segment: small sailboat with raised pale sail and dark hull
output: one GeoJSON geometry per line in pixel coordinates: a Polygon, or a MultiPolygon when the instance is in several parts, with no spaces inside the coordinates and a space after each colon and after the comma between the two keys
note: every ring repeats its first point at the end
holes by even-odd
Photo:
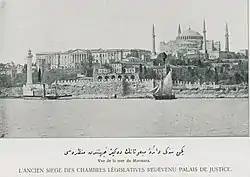
{"type": "Polygon", "coordinates": [[[172,69],[168,74],[161,79],[160,84],[157,85],[153,90],[153,97],[156,100],[172,100],[176,99],[175,95],[172,94],[173,81],[172,81],[172,69]]]}

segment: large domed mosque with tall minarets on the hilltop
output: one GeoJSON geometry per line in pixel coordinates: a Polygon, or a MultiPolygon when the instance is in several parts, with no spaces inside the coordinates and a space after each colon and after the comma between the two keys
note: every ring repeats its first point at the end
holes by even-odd
{"type": "MultiPolygon", "coordinates": [[[[153,32],[154,33],[154,32],[153,32]]],[[[194,31],[191,27],[182,31],[181,26],[178,27],[178,33],[175,40],[168,42],[160,42],[160,52],[171,54],[177,58],[204,58],[218,59],[227,57],[229,52],[229,32],[226,23],[225,30],[225,50],[221,50],[220,41],[207,40],[206,22],[203,21],[203,35],[194,31]],[[204,42],[206,41],[206,42],[204,42]]],[[[153,34],[155,37],[155,34],[153,34]]]]}

